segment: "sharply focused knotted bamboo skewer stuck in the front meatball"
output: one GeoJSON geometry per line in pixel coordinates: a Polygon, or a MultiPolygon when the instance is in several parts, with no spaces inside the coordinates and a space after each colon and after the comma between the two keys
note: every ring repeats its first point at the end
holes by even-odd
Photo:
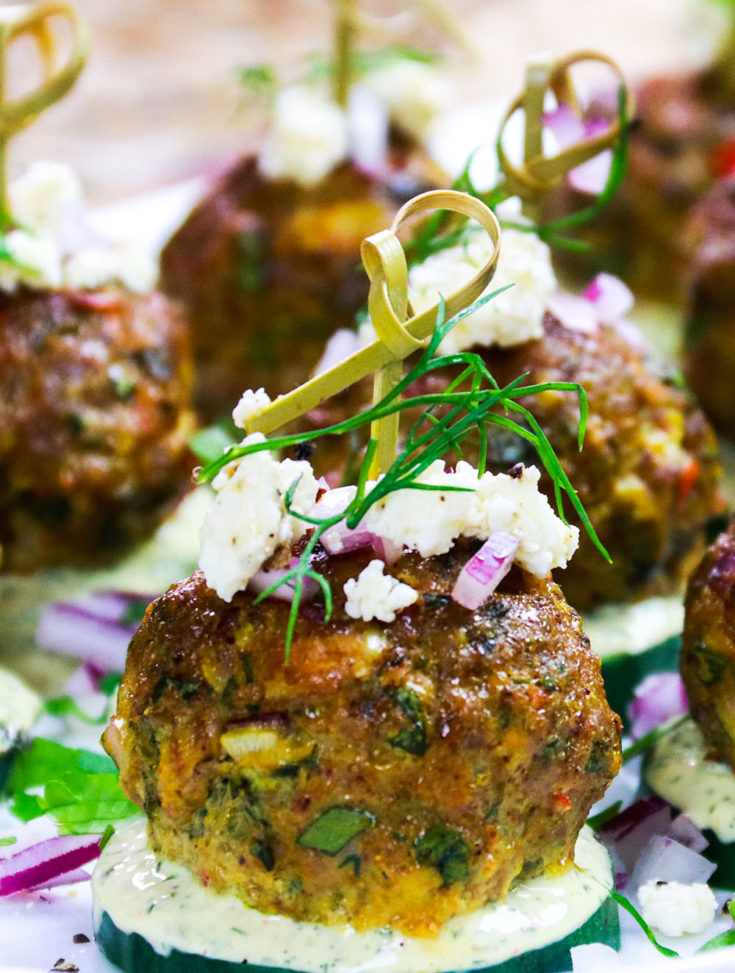
{"type": "MultiPolygon", "coordinates": [[[[449,210],[476,220],[492,241],[492,252],[483,267],[446,299],[447,320],[477,300],[490,283],[500,254],[500,226],[495,214],[474,196],[451,189],[414,197],[396,213],[390,230],[375,233],[362,244],[362,259],[370,278],[368,309],[377,340],[292,392],[279,396],[247,422],[248,432],[269,433],[279,429],[371,374],[376,375],[375,394],[378,394],[378,382],[385,388],[383,395],[395,387],[402,373],[400,363],[427,344],[438,310],[436,304],[421,314],[413,314],[408,300],[406,258],[397,232],[402,223],[433,210],[449,210]],[[407,315],[411,315],[408,320],[407,315]],[[392,371],[384,371],[390,366],[392,371]]],[[[393,417],[387,418],[393,421],[393,417]]],[[[396,441],[391,440],[394,432],[397,435],[397,420],[378,430],[375,462],[378,472],[395,458],[396,441]]]]}

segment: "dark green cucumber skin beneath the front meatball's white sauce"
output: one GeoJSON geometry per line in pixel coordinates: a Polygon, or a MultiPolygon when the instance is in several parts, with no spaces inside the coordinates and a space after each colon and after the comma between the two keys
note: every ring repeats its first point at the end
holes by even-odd
{"type": "MultiPolygon", "coordinates": [[[[230,963],[208,959],[206,956],[181,953],[177,949],[168,956],[162,956],[138,933],[125,933],[118,929],[106,912],[102,915],[95,938],[110,962],[126,973],[242,973],[244,965],[247,965],[248,973],[299,973],[293,969],[257,966],[245,960],[230,963]]],[[[605,899],[594,915],[559,942],[531,950],[499,965],[473,967],[471,973],[563,973],[571,969],[570,949],[586,943],[603,943],[613,949],[620,948],[618,907],[612,898],[605,899]]]]}

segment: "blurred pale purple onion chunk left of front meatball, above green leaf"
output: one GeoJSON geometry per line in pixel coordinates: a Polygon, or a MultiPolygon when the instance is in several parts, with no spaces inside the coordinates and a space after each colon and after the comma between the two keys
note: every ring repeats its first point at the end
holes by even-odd
{"type": "Polygon", "coordinates": [[[120,619],[132,604],[152,600],[149,595],[105,591],[47,605],[36,629],[36,644],[45,652],[90,661],[106,672],[121,671],[137,625],[123,625],[120,619]]]}

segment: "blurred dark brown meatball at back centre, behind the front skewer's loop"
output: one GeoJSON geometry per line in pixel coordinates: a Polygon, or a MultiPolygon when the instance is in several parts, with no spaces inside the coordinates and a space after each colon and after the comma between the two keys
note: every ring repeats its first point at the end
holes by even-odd
{"type": "Polygon", "coordinates": [[[446,178],[403,144],[391,165],[387,182],[345,162],[305,189],[267,179],[247,156],[174,234],[161,281],[193,327],[203,416],[228,413],[244,388],[264,386],[272,397],[294,388],[333,331],[352,322],[368,291],[360,243],[446,178]]]}

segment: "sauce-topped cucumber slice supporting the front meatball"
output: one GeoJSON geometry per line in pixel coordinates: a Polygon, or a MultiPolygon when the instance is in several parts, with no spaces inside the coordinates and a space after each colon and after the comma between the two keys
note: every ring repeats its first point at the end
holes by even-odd
{"type": "Polygon", "coordinates": [[[248,909],[156,860],[136,823],[113,836],[95,868],[97,941],[126,973],[234,973],[244,962],[251,973],[350,973],[376,960],[384,973],[554,973],[570,968],[572,946],[620,944],[610,860],[587,828],[575,857],[576,867],[525,881],[436,938],[416,939],[248,909]]]}

